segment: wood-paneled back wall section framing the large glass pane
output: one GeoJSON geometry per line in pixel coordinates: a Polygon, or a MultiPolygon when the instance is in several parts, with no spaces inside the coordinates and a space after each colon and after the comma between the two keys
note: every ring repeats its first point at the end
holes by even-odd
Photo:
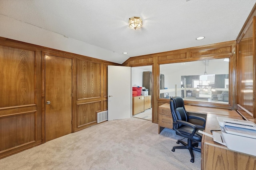
{"type": "MultiPolygon", "coordinates": [[[[160,98],[159,82],[160,82],[160,64],[180,63],[187,61],[199,61],[208,59],[230,59],[230,104],[214,104],[208,102],[192,102],[185,101],[185,104],[196,106],[220,107],[226,109],[236,109],[236,41],[228,41],[223,43],[216,43],[212,45],[205,45],[200,47],[192,47],[187,49],[180,49],[174,51],[167,51],[163,53],[156,53],[150,55],[143,55],[138,57],[131,57],[125,61],[123,66],[146,66],[152,65],[153,70],[153,95],[152,95],[152,122],[158,123],[158,106],[169,103],[168,99],[160,98]]],[[[193,69],[193,68],[191,68],[193,69]]]]}

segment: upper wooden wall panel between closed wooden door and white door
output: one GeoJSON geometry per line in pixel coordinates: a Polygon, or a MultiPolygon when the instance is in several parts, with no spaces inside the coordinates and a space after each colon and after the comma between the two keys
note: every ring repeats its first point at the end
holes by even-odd
{"type": "Polygon", "coordinates": [[[100,98],[101,64],[77,60],[77,98],[100,98]]]}

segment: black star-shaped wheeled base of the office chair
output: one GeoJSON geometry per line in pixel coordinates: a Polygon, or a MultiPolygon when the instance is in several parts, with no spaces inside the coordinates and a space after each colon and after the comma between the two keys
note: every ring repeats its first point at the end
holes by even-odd
{"type": "Polygon", "coordinates": [[[198,147],[198,142],[192,143],[191,139],[188,139],[188,143],[185,143],[181,140],[177,141],[177,144],[181,143],[184,146],[176,146],[176,147],[172,147],[172,152],[175,151],[175,149],[188,149],[191,155],[191,159],[190,162],[194,163],[194,154],[193,154],[193,150],[197,151],[197,152],[201,152],[200,148],[195,148],[198,147]]]}

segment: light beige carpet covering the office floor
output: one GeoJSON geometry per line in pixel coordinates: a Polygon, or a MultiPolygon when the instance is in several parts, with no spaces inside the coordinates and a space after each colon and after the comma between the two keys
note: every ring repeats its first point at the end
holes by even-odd
{"type": "Polygon", "coordinates": [[[0,170],[200,170],[171,129],[137,118],[106,121],[0,160],[0,170]]]}

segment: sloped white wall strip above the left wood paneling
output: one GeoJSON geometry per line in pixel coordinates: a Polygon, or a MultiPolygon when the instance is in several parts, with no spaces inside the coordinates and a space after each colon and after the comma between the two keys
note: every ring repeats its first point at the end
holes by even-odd
{"type": "MultiPolygon", "coordinates": [[[[0,37],[122,64],[124,55],[0,14],[0,37]]],[[[128,59],[129,57],[127,57],[128,59]]]]}

